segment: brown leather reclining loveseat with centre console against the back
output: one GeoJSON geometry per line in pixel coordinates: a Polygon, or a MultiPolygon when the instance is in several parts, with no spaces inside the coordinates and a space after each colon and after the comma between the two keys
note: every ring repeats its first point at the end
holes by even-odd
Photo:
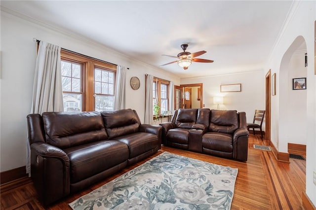
{"type": "Polygon", "coordinates": [[[175,110],[160,123],[162,144],[189,151],[247,161],[246,113],[208,108],[175,110]]]}

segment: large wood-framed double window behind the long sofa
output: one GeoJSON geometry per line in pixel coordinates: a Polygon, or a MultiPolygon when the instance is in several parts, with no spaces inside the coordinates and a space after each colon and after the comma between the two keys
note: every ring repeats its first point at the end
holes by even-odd
{"type": "Polygon", "coordinates": [[[114,109],[116,65],[61,50],[64,111],[114,109]]]}

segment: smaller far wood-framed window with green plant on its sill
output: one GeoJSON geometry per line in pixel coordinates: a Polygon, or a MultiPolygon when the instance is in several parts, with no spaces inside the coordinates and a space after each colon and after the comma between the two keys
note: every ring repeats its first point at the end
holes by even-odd
{"type": "MultiPolygon", "coordinates": [[[[170,84],[169,81],[159,79],[159,78],[154,78],[153,105],[158,104],[159,114],[164,114],[169,110],[169,84],[170,84]]],[[[153,110],[153,113],[155,113],[154,110],[153,110]]]]}

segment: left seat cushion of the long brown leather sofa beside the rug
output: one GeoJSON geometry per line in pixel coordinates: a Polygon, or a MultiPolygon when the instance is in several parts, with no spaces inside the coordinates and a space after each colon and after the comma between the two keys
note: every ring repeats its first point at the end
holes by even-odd
{"type": "Polygon", "coordinates": [[[126,144],[115,140],[91,142],[64,150],[70,160],[70,182],[76,183],[128,159],[126,144]]]}

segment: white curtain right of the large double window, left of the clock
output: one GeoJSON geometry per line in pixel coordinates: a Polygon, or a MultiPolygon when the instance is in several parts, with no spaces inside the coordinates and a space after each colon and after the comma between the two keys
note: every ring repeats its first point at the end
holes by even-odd
{"type": "Polygon", "coordinates": [[[125,79],[126,79],[126,68],[123,66],[117,67],[117,79],[115,86],[114,96],[114,109],[125,108],[125,79]]]}

